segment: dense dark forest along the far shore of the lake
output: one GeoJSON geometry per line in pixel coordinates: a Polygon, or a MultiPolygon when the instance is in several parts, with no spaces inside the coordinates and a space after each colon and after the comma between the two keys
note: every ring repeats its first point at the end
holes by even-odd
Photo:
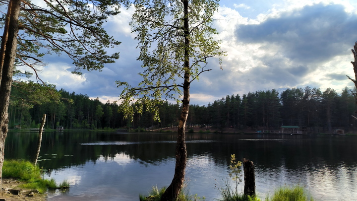
{"type": "MultiPolygon", "coordinates": [[[[213,127],[224,132],[236,130],[276,130],[281,125],[306,127],[307,132],[331,133],[334,129],[355,130],[355,98],[345,87],[341,94],[327,88],[288,88],[227,95],[207,105],[191,105],[188,126],[213,127]]],[[[136,113],[133,122],[123,118],[117,102],[102,103],[87,95],[56,90],[53,85],[17,82],[9,106],[9,127],[38,128],[47,114],[46,129],[167,128],[178,123],[180,105],[160,105],[160,122],[150,112],[136,113]]],[[[144,108],[145,110],[145,108],[144,108]]]]}

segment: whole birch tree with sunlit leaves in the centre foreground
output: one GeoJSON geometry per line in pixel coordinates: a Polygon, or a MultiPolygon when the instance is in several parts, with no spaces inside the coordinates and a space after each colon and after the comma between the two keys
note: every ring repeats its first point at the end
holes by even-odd
{"type": "Polygon", "coordinates": [[[176,145],[175,174],[170,186],[162,196],[163,201],[173,201],[183,185],[187,151],[185,125],[190,102],[190,85],[207,68],[209,58],[218,57],[219,66],[224,52],[217,34],[212,28],[213,14],[218,9],[218,0],[135,0],[135,13],[131,26],[137,34],[137,48],[142,61],[143,80],[138,86],[117,81],[124,86],[120,94],[121,111],[127,118],[133,112],[155,112],[158,119],[158,103],[163,99],[181,101],[182,110],[176,145]],[[136,102],[135,105],[133,103],[136,102]],[[137,104],[140,103],[140,104],[137,104]]]}

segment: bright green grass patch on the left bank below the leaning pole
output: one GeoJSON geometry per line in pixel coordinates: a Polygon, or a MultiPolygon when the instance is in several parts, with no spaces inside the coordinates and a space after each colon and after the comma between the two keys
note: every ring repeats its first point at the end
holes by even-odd
{"type": "Polygon", "coordinates": [[[5,160],[2,167],[2,178],[13,178],[24,182],[20,188],[36,189],[41,194],[47,190],[68,187],[67,181],[57,186],[54,179],[42,179],[42,170],[33,163],[24,160],[5,160]]]}

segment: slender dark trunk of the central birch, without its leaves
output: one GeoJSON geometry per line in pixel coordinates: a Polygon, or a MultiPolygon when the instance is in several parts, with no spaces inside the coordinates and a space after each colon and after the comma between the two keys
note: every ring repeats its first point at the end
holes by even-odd
{"type": "Polygon", "coordinates": [[[179,118],[178,137],[176,144],[176,165],[174,179],[161,197],[161,201],[175,201],[178,197],[184,182],[187,149],[185,142],[185,128],[189,109],[189,87],[190,87],[190,66],[189,66],[189,26],[188,26],[188,0],[183,0],[183,34],[185,40],[184,49],[184,82],[182,110],[179,118]]]}

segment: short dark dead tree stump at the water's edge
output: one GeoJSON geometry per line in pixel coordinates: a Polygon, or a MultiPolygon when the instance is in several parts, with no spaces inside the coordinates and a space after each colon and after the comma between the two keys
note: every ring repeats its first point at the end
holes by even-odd
{"type": "Polygon", "coordinates": [[[253,161],[243,158],[244,196],[255,196],[255,175],[253,161]]]}

